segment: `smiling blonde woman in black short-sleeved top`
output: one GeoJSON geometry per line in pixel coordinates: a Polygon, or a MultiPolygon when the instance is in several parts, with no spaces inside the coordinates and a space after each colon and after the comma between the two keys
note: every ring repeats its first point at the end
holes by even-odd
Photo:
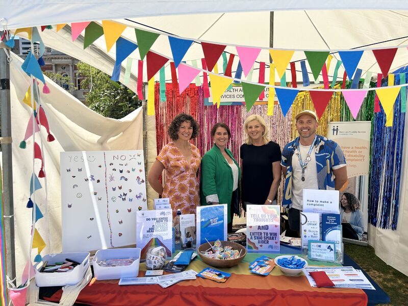
{"type": "Polygon", "coordinates": [[[244,209],[251,204],[276,204],[281,182],[281,148],[269,141],[265,120],[251,115],[245,120],[246,143],[241,145],[242,202],[244,209]]]}

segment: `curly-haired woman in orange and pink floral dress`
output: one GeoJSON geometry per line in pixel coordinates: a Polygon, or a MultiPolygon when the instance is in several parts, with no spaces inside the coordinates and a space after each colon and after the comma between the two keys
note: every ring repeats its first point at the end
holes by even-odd
{"type": "Polygon", "coordinates": [[[191,115],[179,114],[171,122],[168,133],[171,142],[166,144],[151,166],[147,175],[150,186],[162,197],[170,198],[173,218],[177,209],[182,214],[195,214],[199,205],[199,185],[197,170],[201,156],[190,139],[198,136],[199,126],[191,115]],[[159,176],[166,170],[164,187],[159,176]]]}

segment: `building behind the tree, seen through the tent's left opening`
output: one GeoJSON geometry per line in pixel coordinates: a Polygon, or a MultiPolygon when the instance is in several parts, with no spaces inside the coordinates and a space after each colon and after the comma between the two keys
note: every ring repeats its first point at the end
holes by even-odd
{"type": "MultiPolygon", "coordinates": [[[[27,39],[16,39],[12,52],[25,59],[30,52],[31,42],[27,39]]],[[[39,44],[34,43],[34,54],[38,55],[39,44]]],[[[43,72],[59,73],[63,77],[69,77],[70,83],[73,84],[75,90],[70,93],[80,101],[84,102],[84,93],[88,92],[88,89],[84,89],[81,86],[81,75],[77,70],[77,63],[79,60],[59,52],[55,49],[45,47],[44,55],[42,56],[45,66],[41,66],[43,72]]],[[[67,84],[59,84],[64,89],[68,89],[67,84]]]]}

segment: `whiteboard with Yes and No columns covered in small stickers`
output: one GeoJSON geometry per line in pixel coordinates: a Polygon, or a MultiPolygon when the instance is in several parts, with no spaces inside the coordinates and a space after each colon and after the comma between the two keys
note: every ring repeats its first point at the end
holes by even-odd
{"type": "Polygon", "coordinates": [[[143,150],[61,152],[62,251],[136,244],[146,199],[143,150]]]}

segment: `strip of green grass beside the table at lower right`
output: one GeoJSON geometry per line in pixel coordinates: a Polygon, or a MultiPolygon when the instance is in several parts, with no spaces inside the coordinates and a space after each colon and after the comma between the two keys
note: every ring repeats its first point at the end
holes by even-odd
{"type": "Polygon", "coordinates": [[[387,265],[371,246],[344,244],[344,250],[391,298],[387,305],[408,305],[408,276],[387,265]]]}

